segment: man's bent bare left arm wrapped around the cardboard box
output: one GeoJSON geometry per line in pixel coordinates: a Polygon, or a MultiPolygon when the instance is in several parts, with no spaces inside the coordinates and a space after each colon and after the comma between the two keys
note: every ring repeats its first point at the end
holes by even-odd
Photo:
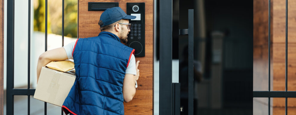
{"type": "Polygon", "coordinates": [[[46,51],[39,56],[37,64],[37,83],[41,68],[51,61],[62,61],[68,59],[67,53],[64,48],[56,48],[46,51]]]}

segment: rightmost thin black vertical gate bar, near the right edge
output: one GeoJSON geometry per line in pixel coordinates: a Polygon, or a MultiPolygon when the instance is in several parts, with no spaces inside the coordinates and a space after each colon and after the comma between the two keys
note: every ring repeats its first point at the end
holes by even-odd
{"type": "MultiPolygon", "coordinates": [[[[285,84],[286,84],[286,92],[288,91],[288,0],[286,0],[286,81],[285,81],[285,84]]],[[[286,111],[286,115],[288,115],[288,107],[287,107],[287,100],[288,98],[286,97],[286,102],[285,102],[285,111],[286,111]]]]}

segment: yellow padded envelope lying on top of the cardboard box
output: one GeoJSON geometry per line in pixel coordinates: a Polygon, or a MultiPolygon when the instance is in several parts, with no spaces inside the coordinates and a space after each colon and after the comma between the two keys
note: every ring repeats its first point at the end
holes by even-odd
{"type": "Polygon", "coordinates": [[[46,67],[54,69],[54,70],[66,72],[66,71],[74,69],[74,62],[71,62],[69,60],[57,61],[57,62],[52,61],[52,62],[49,62],[46,65],[46,67]]]}

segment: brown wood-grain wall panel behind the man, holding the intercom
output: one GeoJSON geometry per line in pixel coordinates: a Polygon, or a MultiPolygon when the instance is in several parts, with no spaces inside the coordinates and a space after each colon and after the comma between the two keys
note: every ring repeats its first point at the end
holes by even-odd
{"type": "Polygon", "coordinates": [[[132,101],[124,103],[126,115],[153,114],[153,0],[79,0],[78,37],[94,37],[100,33],[98,25],[103,11],[88,11],[88,2],[118,2],[126,12],[127,2],[145,2],[145,57],[140,60],[140,78],[132,101]]]}

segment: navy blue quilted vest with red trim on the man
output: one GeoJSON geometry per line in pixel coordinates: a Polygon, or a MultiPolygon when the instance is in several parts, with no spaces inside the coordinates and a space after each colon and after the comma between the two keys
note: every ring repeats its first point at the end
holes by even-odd
{"type": "Polygon", "coordinates": [[[123,78],[134,51],[106,31],[78,39],[72,53],[76,79],[62,106],[65,114],[123,115],[123,78]]]}

